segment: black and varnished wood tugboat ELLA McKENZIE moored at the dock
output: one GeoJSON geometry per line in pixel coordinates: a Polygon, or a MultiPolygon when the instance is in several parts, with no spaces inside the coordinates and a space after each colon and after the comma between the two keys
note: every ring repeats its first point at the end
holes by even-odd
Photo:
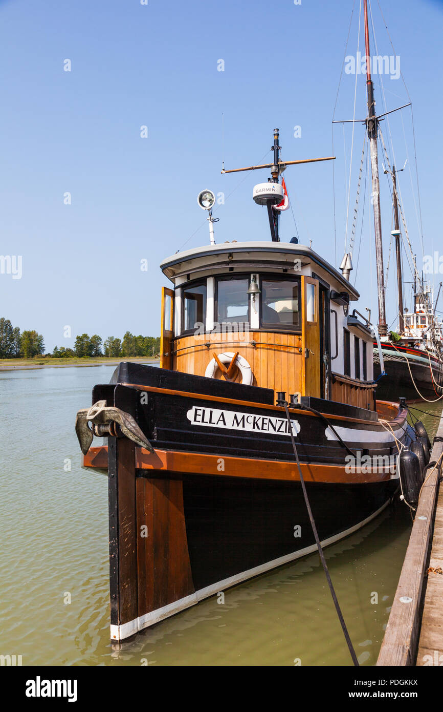
{"type": "Polygon", "coordinates": [[[405,402],[375,401],[356,288],[310,247],[280,241],[289,163],[277,129],[273,150],[250,167],[270,168],[253,197],[271,241],[215,244],[203,191],[210,244],[161,263],[160,367],[122,362],[78,412],[84,465],[108,472],[114,643],[316,550],[300,472],[322,545],[363,527],[390,503],[397,454],[417,438],[405,402]]]}

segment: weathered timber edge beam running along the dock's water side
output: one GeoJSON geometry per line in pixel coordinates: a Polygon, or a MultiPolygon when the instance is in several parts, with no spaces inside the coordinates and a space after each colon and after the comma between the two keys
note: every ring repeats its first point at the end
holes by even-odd
{"type": "MultiPolygon", "coordinates": [[[[443,436],[443,413],[438,435],[443,436]]],[[[431,461],[438,461],[442,451],[443,443],[436,442],[432,448],[431,461]]],[[[439,472],[436,469],[422,487],[393,607],[378,655],[378,666],[415,665],[438,479],[439,472]]]]}

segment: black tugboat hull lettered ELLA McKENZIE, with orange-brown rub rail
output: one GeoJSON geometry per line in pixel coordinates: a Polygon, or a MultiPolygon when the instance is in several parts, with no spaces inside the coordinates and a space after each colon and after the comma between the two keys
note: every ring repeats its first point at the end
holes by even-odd
{"type": "MultiPolygon", "coordinates": [[[[85,465],[107,467],[111,639],[316,550],[287,414],[274,393],[122,364],[92,401],[130,415],[151,449],[112,430],[85,465]]],[[[290,407],[323,545],[393,497],[406,409],[378,413],[315,398],[290,407]],[[387,421],[387,422],[386,422],[387,421]]]]}

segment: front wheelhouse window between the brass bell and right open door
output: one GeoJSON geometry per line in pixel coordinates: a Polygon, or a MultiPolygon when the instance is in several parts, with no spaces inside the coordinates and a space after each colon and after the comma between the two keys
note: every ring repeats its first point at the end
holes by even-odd
{"type": "Polygon", "coordinates": [[[300,281],[266,279],[261,283],[262,327],[300,328],[300,281]]]}

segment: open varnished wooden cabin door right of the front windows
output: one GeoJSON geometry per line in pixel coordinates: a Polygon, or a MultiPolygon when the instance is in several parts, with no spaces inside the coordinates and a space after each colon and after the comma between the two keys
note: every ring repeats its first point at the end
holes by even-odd
{"type": "Polygon", "coordinates": [[[321,397],[320,371],[323,350],[320,348],[319,282],[301,277],[301,352],[303,355],[302,395],[321,397]]]}

